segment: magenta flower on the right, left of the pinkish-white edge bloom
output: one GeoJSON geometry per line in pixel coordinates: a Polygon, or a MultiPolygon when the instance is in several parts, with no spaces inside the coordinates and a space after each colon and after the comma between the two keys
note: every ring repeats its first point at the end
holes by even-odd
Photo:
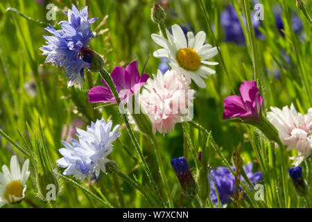
{"type": "Polygon", "coordinates": [[[241,117],[243,120],[259,120],[263,103],[255,81],[245,81],[239,88],[241,96],[227,96],[224,100],[223,119],[241,117]]]}

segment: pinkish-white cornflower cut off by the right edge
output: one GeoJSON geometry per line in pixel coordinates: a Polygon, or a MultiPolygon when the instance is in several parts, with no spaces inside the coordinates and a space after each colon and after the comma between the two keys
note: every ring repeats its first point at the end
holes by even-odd
{"type": "Polygon", "coordinates": [[[297,166],[311,155],[312,108],[305,115],[297,112],[293,104],[291,108],[285,106],[280,110],[271,107],[271,110],[272,112],[268,112],[268,119],[277,128],[281,142],[288,146],[287,151],[295,148],[299,154],[291,158],[297,166]]]}

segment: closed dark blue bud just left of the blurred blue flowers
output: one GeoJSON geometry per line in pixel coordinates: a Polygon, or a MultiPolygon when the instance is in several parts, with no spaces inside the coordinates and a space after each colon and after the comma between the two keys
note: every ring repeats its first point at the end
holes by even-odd
{"type": "Polygon", "coordinates": [[[196,194],[198,194],[198,186],[191,174],[191,171],[189,171],[189,164],[187,164],[187,160],[185,160],[184,157],[178,157],[172,159],[170,163],[177,174],[184,196],[193,198],[196,194]]]}

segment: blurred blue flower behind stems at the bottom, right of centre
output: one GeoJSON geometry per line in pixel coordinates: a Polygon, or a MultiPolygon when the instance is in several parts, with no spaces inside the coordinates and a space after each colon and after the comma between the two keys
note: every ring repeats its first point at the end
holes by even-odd
{"type": "MultiPolygon", "coordinates": [[[[235,167],[232,167],[232,169],[233,171],[236,171],[235,167]]],[[[258,183],[262,180],[263,175],[261,171],[252,173],[252,162],[246,166],[243,166],[243,169],[253,185],[255,185],[256,182],[258,183]]],[[[244,181],[242,177],[241,181],[244,181]]],[[[227,167],[217,167],[216,169],[212,169],[211,173],[209,173],[209,184],[210,198],[216,205],[218,205],[216,189],[218,190],[221,205],[229,203],[231,198],[234,197],[235,178],[231,171],[227,169],[227,167]],[[211,178],[213,180],[211,180],[211,178]],[[216,189],[214,184],[216,185],[216,189]]],[[[239,187],[239,191],[241,191],[241,187],[239,187]]]]}

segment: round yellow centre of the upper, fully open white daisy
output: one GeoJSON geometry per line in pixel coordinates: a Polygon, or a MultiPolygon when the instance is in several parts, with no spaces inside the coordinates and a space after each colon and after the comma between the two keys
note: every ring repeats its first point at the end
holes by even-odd
{"type": "Polygon", "coordinates": [[[193,50],[193,47],[179,49],[175,54],[180,67],[189,71],[196,71],[200,67],[200,56],[193,50]]]}

